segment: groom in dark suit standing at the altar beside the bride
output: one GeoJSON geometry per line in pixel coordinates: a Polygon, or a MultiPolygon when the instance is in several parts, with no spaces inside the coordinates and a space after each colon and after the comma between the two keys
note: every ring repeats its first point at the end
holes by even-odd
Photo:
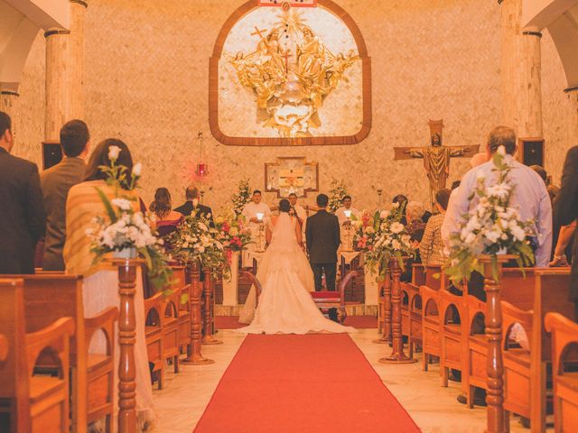
{"type": "Polygon", "coordinates": [[[322,275],[325,272],[327,290],[335,290],[337,274],[337,250],[340,247],[340,223],[327,212],[329,198],[325,194],[317,196],[319,211],[307,218],[305,239],[309,262],[315,277],[315,291],[322,290],[322,275]]]}

